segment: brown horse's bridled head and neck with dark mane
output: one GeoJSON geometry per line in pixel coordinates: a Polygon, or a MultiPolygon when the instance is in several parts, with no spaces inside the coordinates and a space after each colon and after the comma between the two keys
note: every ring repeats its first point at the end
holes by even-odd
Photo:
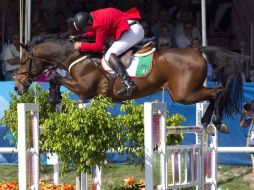
{"type": "Polygon", "coordinates": [[[15,79],[15,90],[18,94],[27,92],[34,79],[45,69],[52,67],[67,70],[70,62],[80,56],[72,41],[54,36],[45,38],[36,45],[20,45],[24,53],[15,79]]]}

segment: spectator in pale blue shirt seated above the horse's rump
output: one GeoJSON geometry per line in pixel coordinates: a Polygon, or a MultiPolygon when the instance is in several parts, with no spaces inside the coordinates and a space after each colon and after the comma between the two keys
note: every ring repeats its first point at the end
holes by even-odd
{"type": "Polygon", "coordinates": [[[183,24],[184,33],[176,37],[176,46],[179,48],[186,48],[191,46],[191,40],[193,38],[198,38],[193,34],[193,23],[192,21],[186,21],[183,24]]]}

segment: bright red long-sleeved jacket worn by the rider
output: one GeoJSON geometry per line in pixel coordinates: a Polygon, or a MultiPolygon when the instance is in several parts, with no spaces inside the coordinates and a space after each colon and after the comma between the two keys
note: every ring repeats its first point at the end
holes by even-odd
{"type": "Polygon", "coordinates": [[[107,37],[118,40],[121,34],[129,30],[128,20],[140,19],[137,8],[132,8],[122,12],[115,8],[99,9],[90,13],[93,16],[92,30],[87,32],[87,36],[95,36],[94,43],[82,43],[80,51],[100,52],[103,49],[107,37]]]}

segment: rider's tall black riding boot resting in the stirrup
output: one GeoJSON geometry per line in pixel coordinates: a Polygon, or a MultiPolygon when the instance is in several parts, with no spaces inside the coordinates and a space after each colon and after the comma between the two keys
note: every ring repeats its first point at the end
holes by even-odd
{"type": "Polygon", "coordinates": [[[112,69],[119,75],[122,81],[122,88],[117,92],[117,94],[131,95],[131,93],[136,89],[137,86],[134,84],[133,81],[131,81],[123,63],[115,54],[111,54],[109,58],[109,64],[111,65],[112,69]]]}

